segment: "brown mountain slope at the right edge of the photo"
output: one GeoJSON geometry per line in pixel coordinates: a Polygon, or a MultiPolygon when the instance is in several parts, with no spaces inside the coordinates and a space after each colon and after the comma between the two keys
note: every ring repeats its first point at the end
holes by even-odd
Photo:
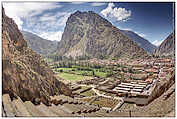
{"type": "Polygon", "coordinates": [[[171,33],[154,51],[155,56],[175,56],[175,36],[171,33]]]}

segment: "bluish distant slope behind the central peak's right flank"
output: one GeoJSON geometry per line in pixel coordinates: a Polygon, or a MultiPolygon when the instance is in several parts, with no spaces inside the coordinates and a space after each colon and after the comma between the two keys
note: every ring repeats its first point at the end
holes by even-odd
{"type": "Polygon", "coordinates": [[[121,32],[128,36],[130,39],[132,39],[134,42],[136,42],[138,46],[146,50],[146,52],[148,53],[152,53],[157,48],[155,45],[151,44],[148,40],[142,38],[141,36],[132,31],[121,30],[121,32]]]}

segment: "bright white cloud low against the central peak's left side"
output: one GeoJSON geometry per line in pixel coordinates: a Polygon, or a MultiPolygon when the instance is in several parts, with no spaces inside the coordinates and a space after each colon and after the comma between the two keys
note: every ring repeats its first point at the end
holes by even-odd
{"type": "Polygon", "coordinates": [[[57,31],[57,32],[43,32],[39,36],[51,40],[51,41],[60,41],[62,37],[63,32],[62,31],[57,31]]]}

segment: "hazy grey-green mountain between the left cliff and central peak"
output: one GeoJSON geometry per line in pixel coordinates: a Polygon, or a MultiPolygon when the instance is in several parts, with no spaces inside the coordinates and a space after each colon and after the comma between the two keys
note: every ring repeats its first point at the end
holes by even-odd
{"type": "Polygon", "coordinates": [[[40,55],[52,54],[57,49],[57,41],[46,40],[27,31],[21,32],[29,47],[40,55]]]}

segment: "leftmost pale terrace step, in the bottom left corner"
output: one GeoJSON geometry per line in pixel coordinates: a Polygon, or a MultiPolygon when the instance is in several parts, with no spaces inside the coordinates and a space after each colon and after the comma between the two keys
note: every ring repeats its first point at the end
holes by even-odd
{"type": "Polygon", "coordinates": [[[12,105],[9,94],[4,94],[2,96],[2,104],[3,104],[3,110],[4,110],[4,113],[5,113],[5,116],[15,117],[16,110],[12,105]]]}

